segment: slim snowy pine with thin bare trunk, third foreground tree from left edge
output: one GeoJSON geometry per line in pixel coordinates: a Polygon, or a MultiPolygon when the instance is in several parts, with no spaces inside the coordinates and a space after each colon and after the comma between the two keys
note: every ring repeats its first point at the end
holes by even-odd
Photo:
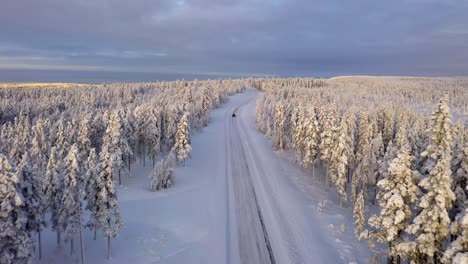
{"type": "Polygon", "coordinates": [[[57,244],[60,246],[60,229],[58,228],[58,216],[61,210],[63,197],[62,162],[58,159],[59,153],[56,147],[50,150],[47,163],[44,194],[46,200],[46,212],[51,214],[50,222],[52,230],[57,232],[57,244]]]}

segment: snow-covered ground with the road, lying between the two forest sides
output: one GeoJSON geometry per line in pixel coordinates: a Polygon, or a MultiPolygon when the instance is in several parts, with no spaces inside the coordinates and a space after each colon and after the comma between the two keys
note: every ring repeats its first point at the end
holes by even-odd
{"type": "MultiPolygon", "coordinates": [[[[370,251],[354,238],[351,210],[313,187],[310,172],[273,152],[256,130],[257,97],[249,89],[212,112],[192,137],[193,158],[176,169],[174,187],[150,192],[151,163],[135,164],[118,189],[125,226],[112,240],[113,259],[102,235],[94,241],[86,229],[86,262],[366,263],[370,251]]],[[[55,233],[43,241],[39,263],[79,262],[77,239],[73,256],[69,244],[57,248],[55,233]]]]}

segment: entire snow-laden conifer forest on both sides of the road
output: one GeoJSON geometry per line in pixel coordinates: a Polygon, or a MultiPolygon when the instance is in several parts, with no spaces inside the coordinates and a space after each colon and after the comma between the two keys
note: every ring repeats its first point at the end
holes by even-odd
{"type": "Polygon", "coordinates": [[[467,263],[468,79],[384,77],[5,86],[0,259],[40,257],[46,227],[72,251],[102,233],[110,257],[115,184],[140,162],[149,190],[172,185],[190,134],[247,86],[258,129],[353,211],[359,239],[389,263],[467,263]]]}

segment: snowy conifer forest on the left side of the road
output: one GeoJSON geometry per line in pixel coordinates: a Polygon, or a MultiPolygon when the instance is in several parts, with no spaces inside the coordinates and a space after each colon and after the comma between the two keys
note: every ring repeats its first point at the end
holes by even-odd
{"type": "MultiPolygon", "coordinates": [[[[132,163],[153,166],[149,189],[174,183],[190,133],[247,80],[116,83],[0,89],[0,259],[41,257],[41,231],[57,244],[83,228],[108,240],[124,224],[115,184],[132,163]],[[149,160],[149,164],[146,164],[149,160]],[[89,217],[85,217],[88,216],[89,217]]],[[[81,246],[81,249],[83,247],[81,246]]],[[[82,252],[83,255],[83,252],[82,252]]]]}

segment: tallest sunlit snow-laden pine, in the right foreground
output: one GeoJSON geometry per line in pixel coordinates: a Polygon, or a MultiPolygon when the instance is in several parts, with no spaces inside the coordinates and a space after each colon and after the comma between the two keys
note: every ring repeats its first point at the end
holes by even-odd
{"type": "Polygon", "coordinates": [[[455,200],[455,194],[451,190],[451,123],[448,97],[444,96],[432,114],[431,142],[421,154],[426,161],[422,168],[423,179],[418,185],[423,189],[424,195],[418,204],[419,213],[406,229],[415,236],[415,240],[398,246],[398,250],[411,261],[440,262],[449,235],[448,210],[455,200]]]}

